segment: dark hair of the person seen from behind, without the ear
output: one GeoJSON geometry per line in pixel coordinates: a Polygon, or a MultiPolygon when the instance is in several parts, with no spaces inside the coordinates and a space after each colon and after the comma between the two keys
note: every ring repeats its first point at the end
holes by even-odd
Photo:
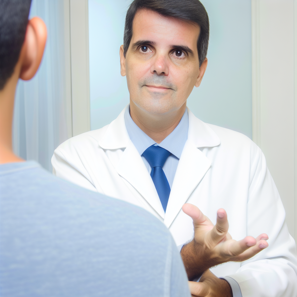
{"type": "Polygon", "coordinates": [[[0,90],[18,62],[30,6],[31,0],[0,0],[0,90]]]}

